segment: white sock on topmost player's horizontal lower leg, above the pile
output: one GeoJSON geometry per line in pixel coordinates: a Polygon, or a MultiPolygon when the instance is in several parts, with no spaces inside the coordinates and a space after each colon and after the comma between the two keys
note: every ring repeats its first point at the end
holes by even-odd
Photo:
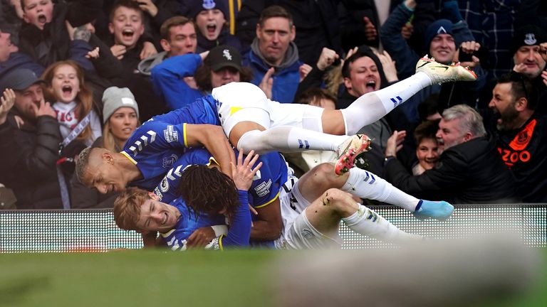
{"type": "Polygon", "coordinates": [[[239,138],[238,149],[256,154],[269,151],[336,151],[348,136],[335,136],[294,126],[276,126],[264,131],[251,130],[239,138]]]}

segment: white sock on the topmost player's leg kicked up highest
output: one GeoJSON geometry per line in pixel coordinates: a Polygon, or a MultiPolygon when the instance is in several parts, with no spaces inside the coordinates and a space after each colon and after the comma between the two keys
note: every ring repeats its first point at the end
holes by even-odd
{"type": "Polygon", "coordinates": [[[429,85],[431,79],[425,72],[417,72],[389,87],[355,99],[349,107],[340,110],[344,117],[345,134],[356,134],[363,126],[376,122],[429,85]]]}

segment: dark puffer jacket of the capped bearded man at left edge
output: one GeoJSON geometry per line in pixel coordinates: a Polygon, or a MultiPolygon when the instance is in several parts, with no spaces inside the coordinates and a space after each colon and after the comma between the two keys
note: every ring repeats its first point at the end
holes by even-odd
{"type": "Polygon", "coordinates": [[[0,183],[14,190],[18,209],[63,208],[56,161],[61,142],[57,119],[38,117],[19,129],[10,114],[0,125],[0,183]]]}

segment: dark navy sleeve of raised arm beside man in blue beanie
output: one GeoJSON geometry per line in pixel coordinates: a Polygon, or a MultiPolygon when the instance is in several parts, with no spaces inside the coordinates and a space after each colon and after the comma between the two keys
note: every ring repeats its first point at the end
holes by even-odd
{"type": "Polygon", "coordinates": [[[414,74],[416,62],[420,59],[420,55],[410,48],[401,35],[402,26],[405,26],[411,14],[405,4],[400,4],[392,11],[380,31],[382,45],[395,60],[400,80],[414,74]]]}

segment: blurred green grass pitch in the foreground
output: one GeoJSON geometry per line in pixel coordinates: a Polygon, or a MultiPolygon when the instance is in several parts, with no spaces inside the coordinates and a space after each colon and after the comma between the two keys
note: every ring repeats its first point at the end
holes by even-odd
{"type": "MultiPolygon", "coordinates": [[[[276,306],[268,272],[281,253],[0,254],[0,306],[276,306]]],[[[484,306],[547,306],[538,269],[534,289],[484,306]]]]}

